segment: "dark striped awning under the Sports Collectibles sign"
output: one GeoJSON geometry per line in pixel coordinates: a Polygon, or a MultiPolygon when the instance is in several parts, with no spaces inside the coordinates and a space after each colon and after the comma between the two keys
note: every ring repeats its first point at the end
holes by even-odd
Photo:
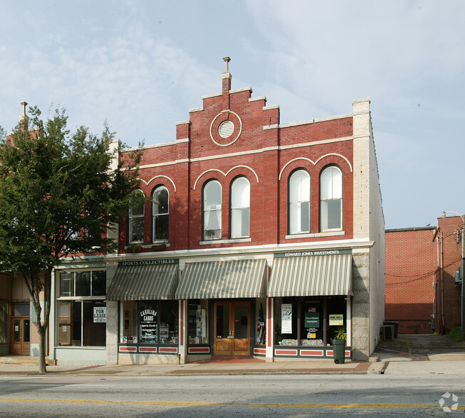
{"type": "Polygon", "coordinates": [[[179,264],[118,266],[108,301],[175,299],[179,264]]]}

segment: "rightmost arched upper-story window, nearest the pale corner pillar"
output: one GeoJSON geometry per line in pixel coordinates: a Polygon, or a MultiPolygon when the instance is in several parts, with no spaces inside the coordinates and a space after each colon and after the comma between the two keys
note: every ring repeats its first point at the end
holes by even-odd
{"type": "Polygon", "coordinates": [[[320,230],[343,229],[343,173],[329,166],[320,176],[320,230]]]}

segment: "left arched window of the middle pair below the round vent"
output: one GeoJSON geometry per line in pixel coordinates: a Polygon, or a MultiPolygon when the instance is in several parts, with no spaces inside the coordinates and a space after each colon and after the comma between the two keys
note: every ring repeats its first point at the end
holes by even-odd
{"type": "Polygon", "coordinates": [[[203,190],[204,240],[221,240],[221,184],[209,181],[203,190]]]}

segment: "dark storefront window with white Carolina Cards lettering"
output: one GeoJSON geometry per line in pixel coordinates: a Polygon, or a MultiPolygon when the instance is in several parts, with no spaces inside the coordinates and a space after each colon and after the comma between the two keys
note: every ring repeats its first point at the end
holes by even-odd
{"type": "Polygon", "coordinates": [[[122,343],[177,344],[178,301],[125,301],[122,343]]]}

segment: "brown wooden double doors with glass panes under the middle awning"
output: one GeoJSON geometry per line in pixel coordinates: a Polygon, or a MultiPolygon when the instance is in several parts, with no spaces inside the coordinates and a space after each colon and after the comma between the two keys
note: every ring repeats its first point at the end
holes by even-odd
{"type": "Polygon", "coordinates": [[[250,355],[250,302],[215,302],[215,355],[250,355]]]}

